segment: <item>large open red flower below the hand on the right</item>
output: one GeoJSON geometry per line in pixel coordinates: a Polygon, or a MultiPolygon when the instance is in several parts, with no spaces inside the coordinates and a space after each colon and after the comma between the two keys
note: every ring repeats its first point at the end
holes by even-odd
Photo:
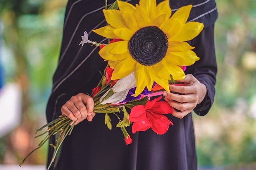
{"type": "Polygon", "coordinates": [[[134,106],[131,110],[129,120],[134,122],[132,133],[137,131],[146,131],[150,127],[157,134],[164,134],[173,125],[164,114],[172,113],[172,107],[164,101],[158,102],[162,97],[148,101],[145,106],[134,106]]]}

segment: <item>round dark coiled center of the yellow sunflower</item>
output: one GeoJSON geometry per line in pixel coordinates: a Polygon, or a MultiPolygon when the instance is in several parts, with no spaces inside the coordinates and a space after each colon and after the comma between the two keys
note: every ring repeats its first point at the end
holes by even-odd
{"type": "Polygon", "coordinates": [[[128,43],[132,58],[144,66],[160,62],[166,55],[168,39],[165,33],[156,26],[139,29],[128,43]]]}

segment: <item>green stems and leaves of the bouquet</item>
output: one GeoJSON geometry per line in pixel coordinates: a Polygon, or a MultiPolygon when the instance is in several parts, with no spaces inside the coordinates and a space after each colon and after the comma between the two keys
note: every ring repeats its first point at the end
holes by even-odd
{"type": "MultiPolygon", "coordinates": [[[[106,9],[118,9],[118,5],[117,2],[115,1],[109,8],[108,8],[108,1],[105,0],[106,3],[106,9]]],[[[110,39],[108,39],[108,43],[110,42],[110,39]]],[[[100,46],[102,44],[100,43],[94,43],[94,45],[96,46],[100,46]]],[[[102,105],[101,103],[104,101],[102,100],[100,102],[100,98],[101,96],[107,91],[109,90],[110,84],[112,82],[112,80],[108,83],[108,84],[104,84],[104,78],[106,78],[106,69],[104,70],[104,75],[102,76],[102,79],[100,80],[100,82],[98,83],[98,86],[96,88],[94,88],[92,94],[94,94],[93,99],[94,99],[94,112],[96,113],[114,113],[117,117],[118,115],[116,114],[116,112],[120,111],[120,108],[117,108],[117,106],[112,106],[112,105],[108,105],[108,104],[104,104],[102,105]],[[98,87],[101,87],[101,89],[96,92],[95,91],[98,87]]],[[[106,82],[106,81],[105,81],[106,82]]],[[[92,96],[92,94],[90,96],[92,96]]],[[[107,98],[108,96],[106,96],[107,98]]],[[[120,106],[122,107],[122,106],[120,106]]],[[[106,117],[105,117],[106,118],[106,117]]],[[[118,120],[121,122],[121,119],[118,117],[118,120]]],[[[43,127],[41,127],[40,129],[36,130],[36,134],[39,131],[42,131],[44,128],[48,127],[48,129],[43,132],[40,135],[37,135],[35,138],[40,137],[42,135],[46,135],[46,137],[44,137],[44,139],[39,143],[38,147],[34,150],[32,150],[20,163],[20,166],[22,166],[22,164],[24,164],[24,162],[27,160],[27,158],[36,150],[38,150],[40,147],[42,147],[44,145],[44,143],[46,143],[48,141],[48,139],[50,139],[50,137],[53,137],[54,135],[56,135],[56,141],[55,141],[55,145],[54,144],[50,144],[50,146],[52,146],[54,148],[54,153],[52,156],[52,160],[47,168],[47,170],[50,169],[50,167],[52,166],[52,163],[54,162],[54,159],[56,158],[56,155],[58,153],[58,150],[60,149],[64,139],[66,138],[67,135],[70,135],[72,133],[72,130],[74,128],[76,121],[72,121],[70,118],[68,118],[66,115],[61,115],[59,118],[51,121],[50,123],[47,123],[46,125],[44,125],[43,127]]],[[[125,136],[128,137],[128,133],[126,132],[126,130],[124,129],[124,127],[122,127],[122,131],[125,134],[125,136]]]]}

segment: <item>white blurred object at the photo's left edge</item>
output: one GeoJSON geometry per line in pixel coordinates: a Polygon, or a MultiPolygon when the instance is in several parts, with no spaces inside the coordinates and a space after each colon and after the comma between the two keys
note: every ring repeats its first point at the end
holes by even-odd
{"type": "Polygon", "coordinates": [[[0,137],[12,131],[21,121],[21,90],[9,83],[0,90],[0,137]]]}

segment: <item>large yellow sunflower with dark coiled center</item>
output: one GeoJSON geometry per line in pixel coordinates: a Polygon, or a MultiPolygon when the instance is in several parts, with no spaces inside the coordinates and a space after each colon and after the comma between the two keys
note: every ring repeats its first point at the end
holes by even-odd
{"type": "Polygon", "coordinates": [[[182,66],[198,61],[196,53],[185,41],[196,37],[204,25],[187,22],[192,5],[181,7],[172,17],[169,0],[156,5],[156,0],[140,0],[133,6],[117,1],[119,10],[103,10],[109,25],[94,30],[110,39],[99,54],[114,69],[112,80],[134,72],[136,96],[145,87],[152,90],[154,81],[169,92],[168,80],[185,78],[182,66]]]}

